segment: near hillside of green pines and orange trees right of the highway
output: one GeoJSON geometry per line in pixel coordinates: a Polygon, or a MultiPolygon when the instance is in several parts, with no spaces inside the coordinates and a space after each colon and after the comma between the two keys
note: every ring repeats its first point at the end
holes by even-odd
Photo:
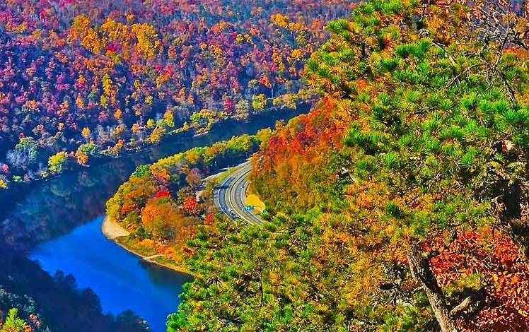
{"type": "Polygon", "coordinates": [[[325,96],[252,157],[269,222],[199,227],[169,330],[527,331],[525,17],[370,0],[330,23],[325,96]]]}

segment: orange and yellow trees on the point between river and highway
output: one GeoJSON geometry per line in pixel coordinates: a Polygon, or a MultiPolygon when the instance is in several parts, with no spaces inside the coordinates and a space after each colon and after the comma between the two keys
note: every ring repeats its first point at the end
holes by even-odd
{"type": "Polygon", "coordinates": [[[107,215],[132,232],[128,246],[162,254],[182,268],[186,240],[197,225],[215,219],[211,199],[197,201],[201,189],[211,195],[211,187],[202,188],[204,176],[245,158],[258,145],[254,136],[238,136],[142,165],[107,201],[107,215]]]}

